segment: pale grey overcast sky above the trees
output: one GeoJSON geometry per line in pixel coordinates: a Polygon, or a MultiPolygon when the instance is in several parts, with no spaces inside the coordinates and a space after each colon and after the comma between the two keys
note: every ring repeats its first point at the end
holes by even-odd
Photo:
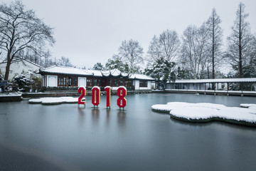
{"type": "MultiPolygon", "coordinates": [[[[9,3],[9,0],[1,0],[9,3]]],[[[242,0],[256,33],[256,1],[242,0]]],[[[122,41],[134,39],[148,51],[154,35],[166,29],[181,36],[190,24],[201,26],[213,8],[222,20],[223,41],[231,33],[239,0],[23,0],[27,9],[54,28],[53,57],[70,58],[75,66],[91,68],[112,58],[122,41]]]]}

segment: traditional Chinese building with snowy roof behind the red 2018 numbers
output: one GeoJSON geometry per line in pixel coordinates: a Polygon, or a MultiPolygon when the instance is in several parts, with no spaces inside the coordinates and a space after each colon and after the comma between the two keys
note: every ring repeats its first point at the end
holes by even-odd
{"type": "Polygon", "coordinates": [[[115,90],[119,86],[125,86],[128,90],[151,90],[151,84],[154,83],[154,78],[149,76],[122,73],[117,69],[96,71],[52,66],[41,68],[39,73],[43,76],[44,87],[111,86],[115,90]]]}

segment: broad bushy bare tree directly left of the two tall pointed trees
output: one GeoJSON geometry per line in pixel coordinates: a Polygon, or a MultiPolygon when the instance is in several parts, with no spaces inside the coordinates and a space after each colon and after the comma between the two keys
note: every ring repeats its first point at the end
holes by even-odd
{"type": "Polygon", "coordinates": [[[208,61],[208,31],[206,24],[200,28],[188,26],[183,32],[180,62],[193,73],[193,78],[201,78],[208,61]]]}

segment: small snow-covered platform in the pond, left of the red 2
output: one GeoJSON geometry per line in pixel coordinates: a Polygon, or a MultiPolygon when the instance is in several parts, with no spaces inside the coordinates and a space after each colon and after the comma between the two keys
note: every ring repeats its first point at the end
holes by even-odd
{"type": "Polygon", "coordinates": [[[28,103],[41,103],[43,105],[57,105],[61,103],[78,103],[78,98],[59,97],[59,98],[36,98],[28,100],[28,103]]]}

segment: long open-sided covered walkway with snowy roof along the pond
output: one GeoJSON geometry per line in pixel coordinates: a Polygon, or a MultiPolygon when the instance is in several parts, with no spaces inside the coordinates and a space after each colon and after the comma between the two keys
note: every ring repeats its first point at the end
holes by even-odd
{"type": "Polygon", "coordinates": [[[256,96],[256,78],[177,80],[166,83],[166,92],[256,96]]]}

